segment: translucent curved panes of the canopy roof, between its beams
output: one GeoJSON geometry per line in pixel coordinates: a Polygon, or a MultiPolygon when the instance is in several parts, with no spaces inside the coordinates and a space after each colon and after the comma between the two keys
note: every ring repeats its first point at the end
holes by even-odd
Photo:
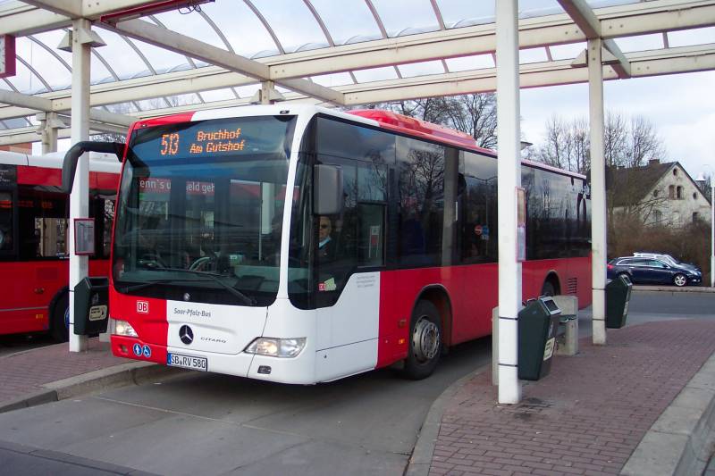
{"type": "MultiPolygon", "coordinates": [[[[587,0],[598,9],[637,4],[638,0],[587,0]]],[[[520,0],[521,19],[564,14],[557,0],[520,0]]],[[[0,0],[0,14],[22,5],[0,0]]],[[[474,0],[215,0],[197,11],[159,13],[143,18],[154,25],[258,59],[280,54],[309,52],[332,46],[357,45],[425,32],[457,30],[494,22],[494,1],[474,0]]],[[[110,85],[131,79],[209,68],[183,54],[95,28],[106,46],[93,48],[91,83],[110,85]]],[[[71,86],[71,54],[57,46],[67,29],[43,31],[16,39],[17,74],[0,79],[0,88],[28,95],[53,93],[71,86]]],[[[672,31],[616,39],[624,53],[715,43],[715,28],[672,31]]],[[[585,42],[527,47],[522,64],[568,61],[585,49],[585,42]]],[[[394,66],[378,66],[309,76],[316,84],[334,88],[374,81],[409,79],[444,73],[494,68],[493,54],[473,54],[394,66]]],[[[144,114],[186,104],[220,103],[250,97],[256,82],[190,94],[147,97],[102,107],[114,113],[144,114]]],[[[285,89],[279,88],[281,91],[285,89]]],[[[0,129],[33,125],[33,117],[0,120],[0,129]]]]}

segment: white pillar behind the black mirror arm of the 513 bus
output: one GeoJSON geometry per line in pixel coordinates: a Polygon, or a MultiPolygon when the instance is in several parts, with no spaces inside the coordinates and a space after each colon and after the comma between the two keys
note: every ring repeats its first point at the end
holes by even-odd
{"type": "MultiPolygon", "coordinates": [[[[90,29],[86,19],[72,21],[72,96],[71,143],[89,138],[89,64],[90,44],[82,43],[83,33],[90,29]]],[[[70,253],[70,352],[87,350],[87,337],[74,335],[74,287],[88,275],[88,257],[74,254],[74,219],[89,214],[89,163],[83,154],[77,163],[70,196],[70,222],[67,228],[70,253]]]]}

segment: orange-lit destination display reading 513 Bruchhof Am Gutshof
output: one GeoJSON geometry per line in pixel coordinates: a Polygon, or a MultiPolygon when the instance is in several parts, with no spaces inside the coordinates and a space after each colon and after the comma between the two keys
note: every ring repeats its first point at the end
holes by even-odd
{"type": "Polygon", "coordinates": [[[135,132],[131,152],[142,161],[285,154],[291,117],[257,116],[169,124],[135,132]]]}

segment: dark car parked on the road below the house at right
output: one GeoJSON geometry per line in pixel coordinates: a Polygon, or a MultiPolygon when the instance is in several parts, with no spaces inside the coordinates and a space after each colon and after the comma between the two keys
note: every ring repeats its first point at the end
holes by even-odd
{"type": "Polygon", "coordinates": [[[700,284],[702,281],[702,274],[699,271],[645,256],[623,256],[610,260],[608,278],[613,280],[619,274],[627,274],[634,284],[686,286],[700,284]]]}

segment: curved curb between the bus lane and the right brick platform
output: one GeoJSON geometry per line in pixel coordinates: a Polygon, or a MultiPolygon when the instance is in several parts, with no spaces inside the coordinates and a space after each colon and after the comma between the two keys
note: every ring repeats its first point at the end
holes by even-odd
{"type": "Polygon", "coordinates": [[[415,449],[412,450],[408,467],[403,473],[405,476],[427,476],[430,472],[430,465],[432,464],[432,456],[434,454],[434,443],[437,441],[437,436],[440,433],[442,413],[444,413],[445,406],[447,406],[450,398],[454,397],[459,389],[465,386],[467,381],[473,379],[475,375],[487,372],[491,367],[492,363],[487,363],[475,371],[467,373],[467,375],[452,383],[448,388],[445,388],[442,394],[434,400],[425,417],[425,422],[422,423],[422,428],[419,430],[415,449]]]}

